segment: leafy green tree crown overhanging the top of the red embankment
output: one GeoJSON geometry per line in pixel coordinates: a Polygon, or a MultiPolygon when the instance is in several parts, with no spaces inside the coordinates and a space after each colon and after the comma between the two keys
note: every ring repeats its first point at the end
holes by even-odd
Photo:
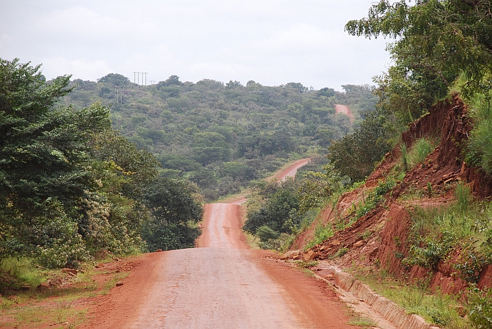
{"type": "Polygon", "coordinates": [[[492,70],[491,1],[483,0],[380,0],[368,18],[349,21],[349,34],[397,38],[388,46],[395,66],[415,83],[437,84],[438,93],[462,74],[465,95],[489,89],[492,70]],[[408,2],[408,3],[407,3],[408,2]]]}

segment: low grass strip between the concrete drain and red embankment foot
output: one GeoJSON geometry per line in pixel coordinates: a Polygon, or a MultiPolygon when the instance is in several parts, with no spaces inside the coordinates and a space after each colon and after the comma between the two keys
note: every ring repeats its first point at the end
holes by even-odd
{"type": "Polygon", "coordinates": [[[470,328],[468,321],[458,314],[457,297],[431,293],[427,280],[413,284],[401,282],[384,271],[366,273],[364,269],[353,270],[355,278],[368,284],[376,293],[392,300],[410,314],[417,314],[425,321],[445,329],[470,328]]]}

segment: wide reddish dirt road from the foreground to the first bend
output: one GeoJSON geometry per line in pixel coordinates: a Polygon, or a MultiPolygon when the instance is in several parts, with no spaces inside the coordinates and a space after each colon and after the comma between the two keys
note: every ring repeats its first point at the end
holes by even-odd
{"type": "Polygon", "coordinates": [[[245,243],[240,206],[207,204],[198,248],[146,255],[90,328],[355,328],[335,293],[245,243]]]}

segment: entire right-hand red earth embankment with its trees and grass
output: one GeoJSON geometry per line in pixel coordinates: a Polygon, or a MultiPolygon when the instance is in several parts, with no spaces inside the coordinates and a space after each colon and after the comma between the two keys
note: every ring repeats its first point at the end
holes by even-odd
{"type": "Polygon", "coordinates": [[[409,2],[379,1],[346,25],[395,38],[394,62],[375,77],[376,110],[329,147],[326,177],[350,184],[313,193],[325,207],[293,247],[330,236],[311,248],[320,258],[464,303],[453,315],[433,302],[409,311],[445,328],[491,328],[491,1],[409,2]]]}

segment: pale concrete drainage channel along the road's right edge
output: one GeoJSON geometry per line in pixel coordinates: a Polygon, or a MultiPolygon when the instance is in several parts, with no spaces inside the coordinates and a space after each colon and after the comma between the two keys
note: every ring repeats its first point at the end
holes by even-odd
{"type": "Polygon", "coordinates": [[[349,273],[323,263],[319,263],[313,270],[318,278],[331,284],[340,293],[341,299],[349,304],[355,313],[373,319],[381,329],[439,329],[427,324],[423,317],[407,314],[403,308],[377,295],[349,273]]]}

